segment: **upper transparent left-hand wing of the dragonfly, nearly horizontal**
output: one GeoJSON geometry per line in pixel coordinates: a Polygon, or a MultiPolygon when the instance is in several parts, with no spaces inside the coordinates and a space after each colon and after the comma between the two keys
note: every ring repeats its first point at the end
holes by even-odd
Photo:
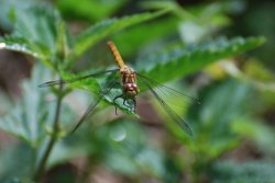
{"type": "Polygon", "coordinates": [[[72,82],[88,79],[88,78],[99,77],[99,76],[102,76],[105,73],[113,73],[113,72],[116,72],[119,69],[105,70],[105,71],[100,71],[100,72],[97,72],[97,73],[86,75],[86,76],[82,76],[82,77],[67,79],[67,80],[47,81],[47,82],[44,82],[44,83],[40,84],[38,87],[44,88],[44,87],[51,87],[51,85],[57,85],[57,84],[64,84],[64,83],[72,83],[72,82]]]}

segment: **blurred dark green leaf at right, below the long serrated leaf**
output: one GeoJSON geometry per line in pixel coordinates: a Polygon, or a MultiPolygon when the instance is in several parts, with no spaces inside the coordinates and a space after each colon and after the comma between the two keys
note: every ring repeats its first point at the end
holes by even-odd
{"type": "Polygon", "coordinates": [[[250,90],[249,85],[232,80],[204,91],[201,105],[194,106],[189,113],[196,134],[190,149],[195,148],[194,151],[206,159],[215,159],[234,148],[239,139],[229,130],[230,124],[248,110],[245,101],[250,90]],[[195,108],[200,111],[199,115],[194,113],[195,108]]]}

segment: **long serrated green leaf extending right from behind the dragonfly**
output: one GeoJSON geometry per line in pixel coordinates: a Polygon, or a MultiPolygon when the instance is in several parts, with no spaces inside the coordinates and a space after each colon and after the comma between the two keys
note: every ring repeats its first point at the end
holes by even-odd
{"type": "Polygon", "coordinates": [[[219,38],[189,45],[177,46],[167,52],[150,55],[136,61],[140,72],[160,82],[167,82],[186,76],[213,61],[251,50],[264,43],[263,37],[219,38]]]}

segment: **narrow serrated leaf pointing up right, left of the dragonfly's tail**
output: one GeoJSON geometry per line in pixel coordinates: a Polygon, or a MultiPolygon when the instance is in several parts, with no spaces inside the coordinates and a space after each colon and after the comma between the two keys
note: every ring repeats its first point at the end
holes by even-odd
{"type": "Polygon", "coordinates": [[[109,19],[97,23],[84,31],[76,37],[74,50],[77,56],[85,53],[89,47],[101,41],[102,38],[111,35],[120,30],[135,25],[138,23],[157,18],[167,11],[157,11],[154,13],[141,13],[134,15],[128,15],[120,19],[109,19]]]}

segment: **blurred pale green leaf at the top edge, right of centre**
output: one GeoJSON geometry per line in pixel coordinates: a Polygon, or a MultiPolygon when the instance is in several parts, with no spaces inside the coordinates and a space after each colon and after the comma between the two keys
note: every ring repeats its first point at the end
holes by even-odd
{"type": "Polygon", "coordinates": [[[193,8],[179,7],[175,1],[144,1],[143,7],[150,9],[169,9],[178,16],[178,30],[184,43],[190,44],[212,36],[217,31],[228,26],[231,20],[226,15],[234,1],[212,2],[193,8]]]}

